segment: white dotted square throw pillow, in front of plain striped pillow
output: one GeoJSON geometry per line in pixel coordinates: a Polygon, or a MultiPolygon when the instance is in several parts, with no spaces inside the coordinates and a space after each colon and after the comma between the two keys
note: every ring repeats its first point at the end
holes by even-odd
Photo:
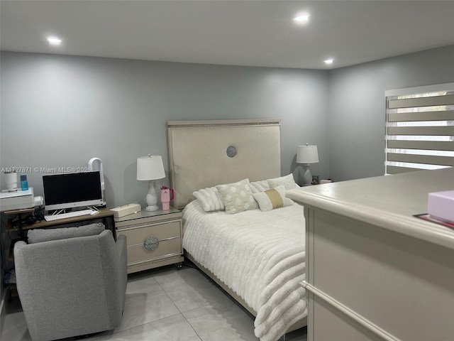
{"type": "Polygon", "coordinates": [[[258,208],[250,189],[249,179],[238,181],[238,183],[217,185],[216,188],[221,193],[228,215],[258,208]]]}

